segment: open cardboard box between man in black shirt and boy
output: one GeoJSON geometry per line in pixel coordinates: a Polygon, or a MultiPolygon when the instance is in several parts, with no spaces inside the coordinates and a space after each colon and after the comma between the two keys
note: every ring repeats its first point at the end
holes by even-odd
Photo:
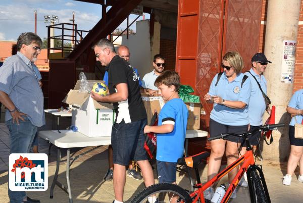
{"type": "Polygon", "coordinates": [[[142,93],[141,96],[147,113],[147,125],[150,125],[151,117],[153,117],[155,111],[158,114],[160,113],[161,108],[164,106],[164,100],[161,96],[150,97],[145,93],[142,93]]]}

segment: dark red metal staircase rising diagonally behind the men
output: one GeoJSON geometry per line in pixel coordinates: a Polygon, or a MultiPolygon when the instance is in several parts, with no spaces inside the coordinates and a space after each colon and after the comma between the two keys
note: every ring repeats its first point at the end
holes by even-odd
{"type": "MultiPolygon", "coordinates": [[[[109,1],[111,5],[102,5],[102,19],[87,33],[79,44],[76,43],[75,48],[71,49],[71,53],[66,58],[64,53],[62,53],[63,57],[61,59],[49,60],[48,108],[58,108],[63,105],[61,101],[69,90],[73,89],[80,71],[94,71],[96,59],[91,49],[93,43],[111,34],[141,1],[117,0],[109,1]],[[111,8],[106,12],[107,6],[111,6],[111,8]]],[[[62,35],[64,37],[64,34],[62,35]]]]}

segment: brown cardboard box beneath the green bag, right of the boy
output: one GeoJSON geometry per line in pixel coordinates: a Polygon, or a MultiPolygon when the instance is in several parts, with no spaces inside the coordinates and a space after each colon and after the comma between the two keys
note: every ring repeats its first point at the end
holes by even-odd
{"type": "Polygon", "coordinates": [[[200,103],[185,103],[188,109],[187,128],[188,130],[197,130],[200,128],[200,103]]]}

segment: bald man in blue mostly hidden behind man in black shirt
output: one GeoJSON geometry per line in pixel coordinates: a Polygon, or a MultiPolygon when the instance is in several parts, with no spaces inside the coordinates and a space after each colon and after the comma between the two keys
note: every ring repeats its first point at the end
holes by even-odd
{"type": "MultiPolygon", "coordinates": [[[[124,58],[127,62],[129,62],[130,53],[129,53],[128,47],[126,47],[124,45],[120,46],[118,48],[118,55],[121,58],[124,58]]],[[[106,71],[105,71],[103,80],[104,80],[105,84],[108,86],[108,81],[109,81],[108,67],[106,67],[105,70],[106,71]]],[[[136,75],[139,78],[139,85],[140,85],[140,87],[142,87],[142,82],[141,82],[141,78],[139,76],[138,70],[136,68],[134,68],[134,71],[136,72],[136,75]]],[[[113,161],[113,147],[112,147],[112,145],[109,146],[108,158],[109,158],[109,169],[108,169],[106,175],[104,176],[105,181],[113,180],[113,175],[114,175],[114,161],[113,161]]],[[[141,176],[140,172],[138,170],[134,169],[132,161],[129,163],[126,175],[128,177],[131,177],[131,178],[135,179],[135,180],[141,180],[142,179],[142,176],[141,176]]]]}

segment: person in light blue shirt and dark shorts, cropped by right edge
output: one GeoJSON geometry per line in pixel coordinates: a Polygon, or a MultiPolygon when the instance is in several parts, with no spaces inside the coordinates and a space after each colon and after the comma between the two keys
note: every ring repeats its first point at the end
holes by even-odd
{"type": "Polygon", "coordinates": [[[300,165],[298,181],[303,183],[303,139],[294,137],[294,124],[301,124],[303,119],[303,89],[296,91],[286,108],[292,118],[289,124],[290,154],[287,162],[287,174],[283,177],[282,184],[290,185],[291,176],[298,163],[300,165]]]}

